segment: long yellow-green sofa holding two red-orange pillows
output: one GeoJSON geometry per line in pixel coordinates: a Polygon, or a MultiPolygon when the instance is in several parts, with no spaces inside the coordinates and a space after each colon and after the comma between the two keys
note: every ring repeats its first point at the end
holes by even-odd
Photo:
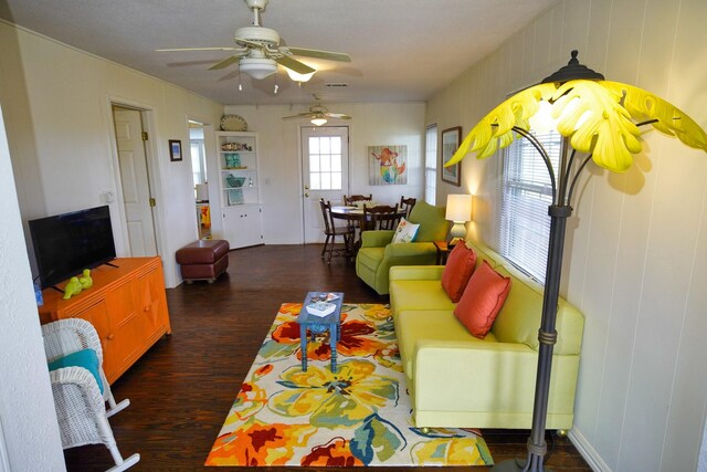
{"type": "MultiPolygon", "coordinates": [[[[441,285],[444,266],[393,266],[390,305],[402,366],[419,428],[529,429],[538,359],[542,287],[483,244],[467,241],[482,260],[513,277],[506,303],[484,339],[454,316],[441,285]]],[[[583,315],[558,305],[558,343],[547,428],[570,429],[579,370],[583,315]]]]}

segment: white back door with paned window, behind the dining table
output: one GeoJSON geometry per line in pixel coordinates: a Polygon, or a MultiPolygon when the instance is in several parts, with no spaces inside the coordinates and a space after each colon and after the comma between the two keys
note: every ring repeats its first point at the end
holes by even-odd
{"type": "Polygon", "coordinates": [[[302,128],[302,187],[304,240],[324,241],[319,199],[340,203],[348,193],[349,128],[306,126],[302,128]]]}

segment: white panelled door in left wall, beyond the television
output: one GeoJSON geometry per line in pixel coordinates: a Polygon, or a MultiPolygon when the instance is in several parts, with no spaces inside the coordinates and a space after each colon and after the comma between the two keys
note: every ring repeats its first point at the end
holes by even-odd
{"type": "Polygon", "coordinates": [[[140,112],[113,108],[120,167],[123,206],[128,228],[130,255],[157,255],[155,221],[150,204],[150,185],[140,112]]]}

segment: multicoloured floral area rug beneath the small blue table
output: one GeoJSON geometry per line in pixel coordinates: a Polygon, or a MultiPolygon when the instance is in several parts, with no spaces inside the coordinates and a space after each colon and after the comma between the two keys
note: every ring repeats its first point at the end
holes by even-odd
{"type": "Polygon", "coordinates": [[[344,304],[333,374],[328,334],[302,371],[300,308],[281,306],[205,465],[493,464],[478,431],[412,424],[390,310],[344,304]]]}

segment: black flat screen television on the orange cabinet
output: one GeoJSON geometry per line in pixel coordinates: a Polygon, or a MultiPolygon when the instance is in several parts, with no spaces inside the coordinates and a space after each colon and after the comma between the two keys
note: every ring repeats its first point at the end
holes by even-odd
{"type": "Polygon", "coordinates": [[[28,222],[42,289],[115,259],[108,206],[28,222]]]}

